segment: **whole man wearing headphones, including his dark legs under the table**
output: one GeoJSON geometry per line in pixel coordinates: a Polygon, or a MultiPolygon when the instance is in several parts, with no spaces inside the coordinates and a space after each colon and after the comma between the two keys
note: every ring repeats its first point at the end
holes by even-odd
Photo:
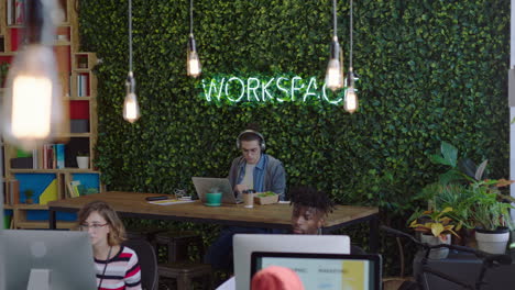
{"type": "MultiPolygon", "coordinates": [[[[264,154],[265,141],[255,130],[245,130],[238,135],[237,147],[242,156],[237,157],[229,170],[229,181],[234,193],[253,189],[256,192],[273,191],[284,199],[286,175],[283,164],[264,154]]],[[[243,233],[273,233],[267,228],[228,226],[221,230],[220,236],[211,244],[205,260],[215,269],[232,271],[232,236],[243,233]]]]}

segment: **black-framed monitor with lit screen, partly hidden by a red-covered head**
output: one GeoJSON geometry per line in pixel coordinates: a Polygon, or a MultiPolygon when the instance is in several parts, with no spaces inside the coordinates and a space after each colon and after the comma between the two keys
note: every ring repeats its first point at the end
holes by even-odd
{"type": "Polygon", "coordinates": [[[251,279],[269,266],[294,270],[305,289],[381,289],[380,255],[307,254],[254,252],[251,279]]]}

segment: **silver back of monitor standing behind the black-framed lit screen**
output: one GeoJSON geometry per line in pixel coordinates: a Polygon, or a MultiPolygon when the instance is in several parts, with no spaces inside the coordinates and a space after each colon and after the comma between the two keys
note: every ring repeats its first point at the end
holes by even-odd
{"type": "Polygon", "coordinates": [[[239,290],[250,289],[253,252],[350,254],[350,238],[344,235],[235,234],[232,242],[239,290]]]}

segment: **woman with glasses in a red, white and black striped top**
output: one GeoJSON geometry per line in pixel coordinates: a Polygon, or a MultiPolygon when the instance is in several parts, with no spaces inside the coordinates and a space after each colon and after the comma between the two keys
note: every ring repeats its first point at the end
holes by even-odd
{"type": "Polygon", "coordinates": [[[103,201],[92,201],[79,211],[78,223],[91,241],[98,290],[140,290],[138,255],[121,245],[125,228],[117,212],[103,201]]]}

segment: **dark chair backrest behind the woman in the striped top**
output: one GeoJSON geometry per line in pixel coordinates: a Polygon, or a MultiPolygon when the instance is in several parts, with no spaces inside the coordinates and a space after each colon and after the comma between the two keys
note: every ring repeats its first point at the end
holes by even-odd
{"type": "Polygon", "coordinates": [[[160,276],[157,274],[157,257],[154,247],[144,239],[129,239],[124,246],[138,254],[141,266],[141,287],[143,290],[157,290],[160,276]]]}

